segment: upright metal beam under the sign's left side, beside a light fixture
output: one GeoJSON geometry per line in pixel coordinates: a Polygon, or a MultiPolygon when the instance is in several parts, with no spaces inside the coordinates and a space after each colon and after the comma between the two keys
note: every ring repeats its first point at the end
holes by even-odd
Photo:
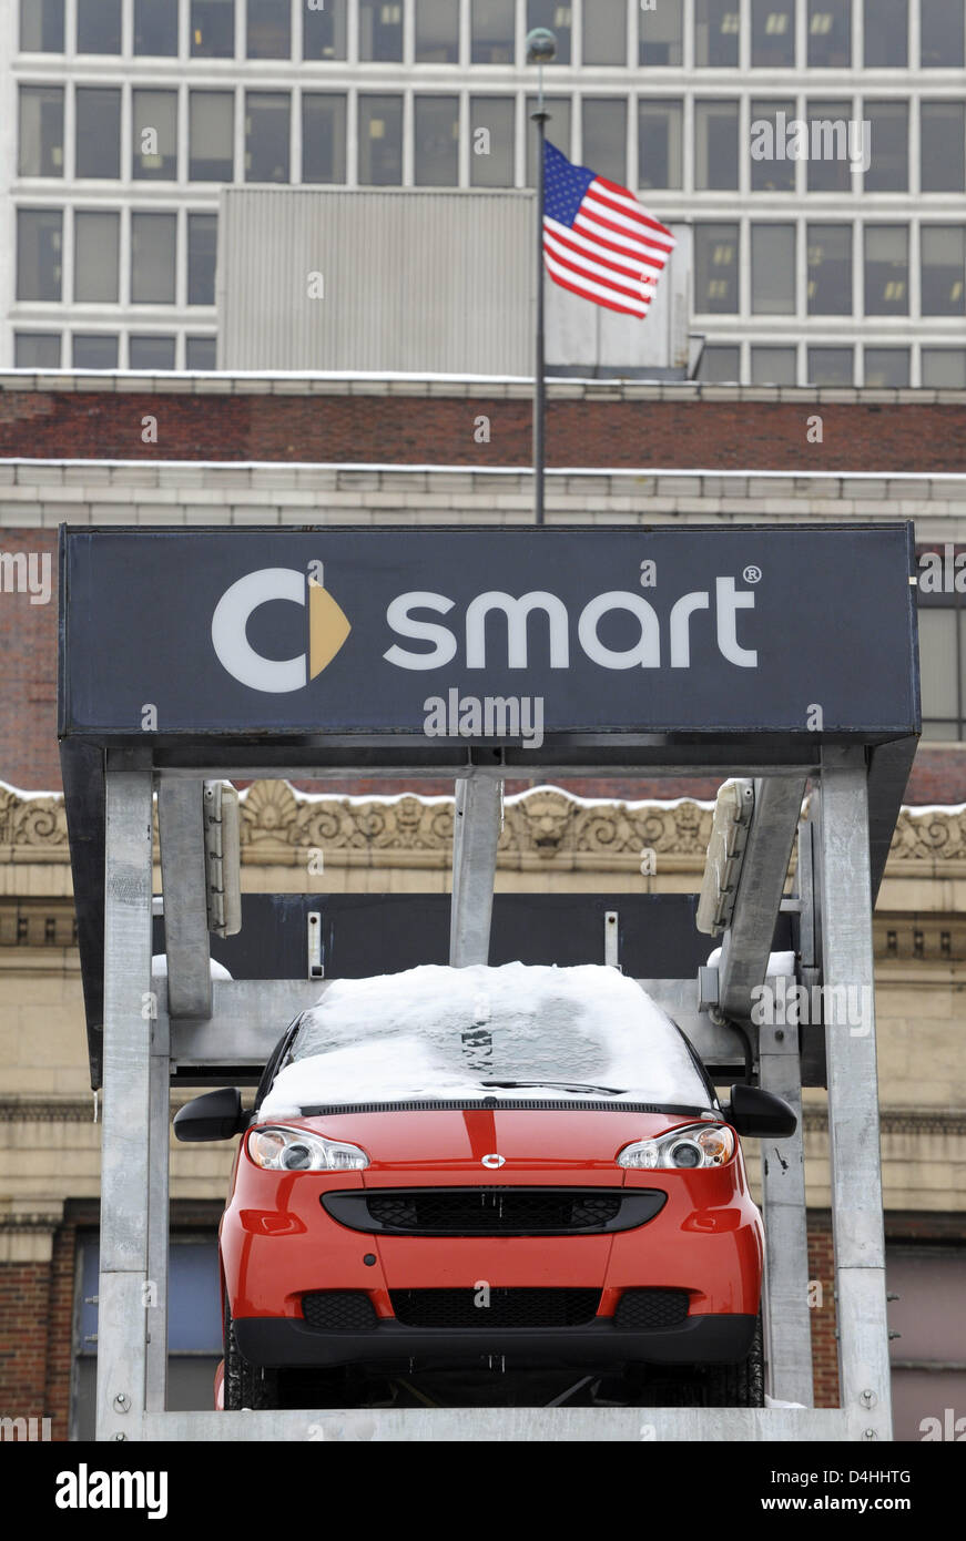
{"type": "Polygon", "coordinates": [[[157,789],[173,1017],[211,1016],[203,792],[205,783],[199,780],[163,781],[157,789]]]}

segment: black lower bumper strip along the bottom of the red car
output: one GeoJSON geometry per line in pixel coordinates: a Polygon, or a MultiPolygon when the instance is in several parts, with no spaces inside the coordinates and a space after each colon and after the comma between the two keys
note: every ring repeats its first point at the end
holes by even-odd
{"type": "Polygon", "coordinates": [[[250,1316],[234,1322],[239,1348],[260,1367],[340,1364],[471,1364],[501,1356],[515,1367],[605,1364],[738,1364],[752,1347],[755,1316],[689,1316],[679,1327],[635,1330],[596,1316],[584,1327],[408,1327],[384,1318],[367,1331],[320,1331],[299,1318],[250,1316]]]}

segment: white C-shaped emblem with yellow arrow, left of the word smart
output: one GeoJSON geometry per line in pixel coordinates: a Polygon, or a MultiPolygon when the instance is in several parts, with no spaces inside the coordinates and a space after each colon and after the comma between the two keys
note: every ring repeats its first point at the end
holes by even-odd
{"type": "Polygon", "coordinates": [[[211,616],[211,644],[219,663],[250,690],[282,695],[302,690],[333,661],[351,632],[347,615],[325,589],[322,562],[262,567],[233,582],[211,616]],[[308,607],[308,652],[294,658],[263,658],[248,641],[248,619],[262,604],[287,599],[308,607]]]}

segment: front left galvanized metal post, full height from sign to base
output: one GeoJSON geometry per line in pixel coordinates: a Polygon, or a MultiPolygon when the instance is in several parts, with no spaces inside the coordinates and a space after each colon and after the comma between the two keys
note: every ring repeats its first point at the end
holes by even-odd
{"type": "Polygon", "coordinates": [[[145,1407],[149,986],[151,772],[108,767],[99,1439],[137,1438],[145,1407]]]}

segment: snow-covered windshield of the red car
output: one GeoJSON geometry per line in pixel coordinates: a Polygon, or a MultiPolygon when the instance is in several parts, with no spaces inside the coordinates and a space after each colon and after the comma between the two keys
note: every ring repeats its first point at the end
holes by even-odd
{"type": "Polygon", "coordinates": [[[305,1012],[260,1116],[521,1094],[709,1106],[675,1023],[616,969],[427,965],[333,982],[305,1012]]]}

